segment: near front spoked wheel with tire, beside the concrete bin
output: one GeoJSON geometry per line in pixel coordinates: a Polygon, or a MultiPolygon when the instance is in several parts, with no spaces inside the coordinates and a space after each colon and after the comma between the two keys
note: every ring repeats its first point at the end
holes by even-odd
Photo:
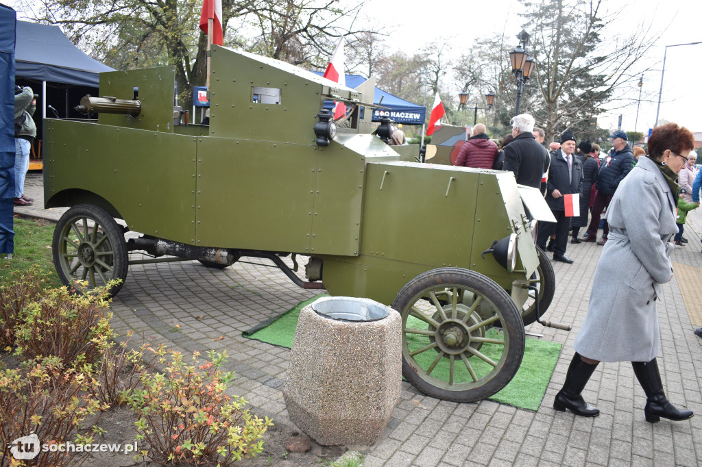
{"type": "Polygon", "coordinates": [[[519,309],[502,287],[475,271],[420,274],[392,308],[402,315],[402,374],[427,395],[456,402],[487,398],[522,363],[519,309]],[[502,330],[493,327],[498,321],[502,330]]]}

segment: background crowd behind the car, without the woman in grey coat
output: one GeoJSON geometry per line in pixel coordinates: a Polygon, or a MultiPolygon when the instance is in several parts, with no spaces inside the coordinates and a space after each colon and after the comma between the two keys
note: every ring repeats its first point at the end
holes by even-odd
{"type": "MultiPolygon", "coordinates": [[[[619,184],[646,151],[640,146],[630,146],[628,135],[621,130],[611,135],[612,148],[602,160],[599,144],[589,140],[578,144],[571,130],[564,131],[547,150],[545,133],[534,127],[534,117],[517,115],[511,123],[512,133],[505,135],[499,145],[486,134],[482,123],[475,125],[472,135],[458,153],[456,165],[510,170],[518,184],[541,189],[556,222],[541,224],[537,245],[542,250],[553,252],[555,261],[573,263],[565,255],[569,235],[570,243],[596,242],[600,246],[607,243],[609,203],[619,184]],[[570,215],[570,210],[569,215],[566,214],[564,195],[567,194],[578,195],[579,209],[575,211],[578,215],[570,215]],[[581,237],[583,228],[585,234],[581,237]],[[598,229],[603,232],[599,240],[598,229]]],[[[696,159],[697,154],[691,150],[678,175],[681,199],[684,200],[677,208],[679,230],[674,241],[678,246],[687,243],[687,238],[682,236],[685,218],[689,210],[697,208],[695,203],[699,201],[702,188],[702,177],[695,170],[696,159]],[[697,198],[693,200],[695,180],[697,198]]]]}

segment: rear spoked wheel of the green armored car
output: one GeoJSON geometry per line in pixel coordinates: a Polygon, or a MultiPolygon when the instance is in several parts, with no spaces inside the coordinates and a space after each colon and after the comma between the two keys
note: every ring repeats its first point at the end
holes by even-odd
{"type": "Polygon", "coordinates": [[[105,210],[77,205],[61,216],[53,231],[53,264],[64,285],[87,292],[121,279],[110,288],[110,295],[116,295],[127,263],[124,230],[105,210]]]}

